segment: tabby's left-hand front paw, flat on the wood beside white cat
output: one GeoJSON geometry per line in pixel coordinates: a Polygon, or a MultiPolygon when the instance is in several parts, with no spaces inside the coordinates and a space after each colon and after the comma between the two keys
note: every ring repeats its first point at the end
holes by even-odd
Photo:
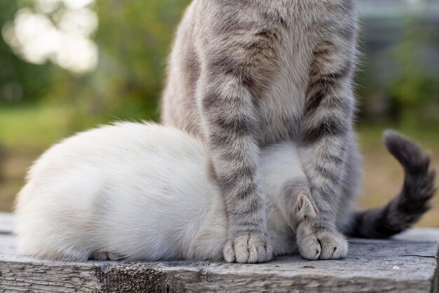
{"type": "Polygon", "coordinates": [[[271,245],[259,234],[239,235],[224,247],[224,259],[229,263],[262,263],[272,258],[271,245]]]}

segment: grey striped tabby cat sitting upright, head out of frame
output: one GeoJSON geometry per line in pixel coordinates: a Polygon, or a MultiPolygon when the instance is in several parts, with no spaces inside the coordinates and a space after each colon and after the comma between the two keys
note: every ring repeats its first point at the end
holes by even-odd
{"type": "Polygon", "coordinates": [[[356,35],[356,0],[194,0],[187,9],[162,120],[208,145],[229,216],[227,261],[271,258],[257,173],[260,148],[279,141],[299,146],[319,211],[311,240],[297,240],[306,259],[342,258],[341,232],[389,237],[426,211],[434,193],[428,158],[413,162],[404,154],[413,176],[400,197],[353,211],[361,173],[353,131],[356,35]],[[257,258],[235,247],[256,250],[257,258]]]}

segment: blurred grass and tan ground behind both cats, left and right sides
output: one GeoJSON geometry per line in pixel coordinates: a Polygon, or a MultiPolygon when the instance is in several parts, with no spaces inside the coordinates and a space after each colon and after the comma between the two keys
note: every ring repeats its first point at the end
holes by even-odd
{"type": "MultiPolygon", "coordinates": [[[[0,211],[11,211],[15,194],[32,161],[50,144],[71,134],[69,117],[69,109],[65,107],[0,108],[0,144],[6,153],[4,159],[0,155],[0,211]]],[[[439,126],[360,126],[358,134],[364,164],[360,207],[379,207],[389,202],[403,184],[403,170],[381,143],[381,133],[387,128],[419,141],[431,151],[433,165],[439,169],[439,126]]],[[[439,228],[439,197],[433,200],[433,206],[419,226],[439,228]]]]}

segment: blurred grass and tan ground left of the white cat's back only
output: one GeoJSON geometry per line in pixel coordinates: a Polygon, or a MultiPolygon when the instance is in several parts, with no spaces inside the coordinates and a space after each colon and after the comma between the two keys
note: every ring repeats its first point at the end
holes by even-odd
{"type": "Polygon", "coordinates": [[[0,108],[0,211],[10,211],[25,172],[50,144],[67,134],[67,108],[0,108]]]}

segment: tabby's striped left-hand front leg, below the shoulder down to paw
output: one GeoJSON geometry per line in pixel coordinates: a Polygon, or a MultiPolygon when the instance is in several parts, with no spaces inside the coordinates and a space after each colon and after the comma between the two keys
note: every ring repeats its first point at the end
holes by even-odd
{"type": "Polygon", "coordinates": [[[238,263],[268,261],[272,251],[257,180],[257,114],[250,91],[234,77],[224,79],[227,86],[209,86],[203,96],[207,143],[229,219],[224,259],[238,263]]]}

